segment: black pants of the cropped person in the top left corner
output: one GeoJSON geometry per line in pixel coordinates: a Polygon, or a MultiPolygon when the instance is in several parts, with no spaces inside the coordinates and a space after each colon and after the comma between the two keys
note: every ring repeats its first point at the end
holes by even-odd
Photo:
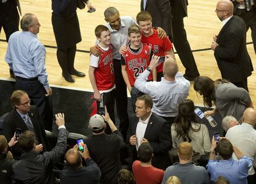
{"type": "Polygon", "coordinates": [[[7,1],[2,3],[0,1],[0,32],[4,28],[4,33],[6,33],[6,40],[15,31],[19,31],[20,17],[17,11],[17,4],[15,1],[7,1]]]}

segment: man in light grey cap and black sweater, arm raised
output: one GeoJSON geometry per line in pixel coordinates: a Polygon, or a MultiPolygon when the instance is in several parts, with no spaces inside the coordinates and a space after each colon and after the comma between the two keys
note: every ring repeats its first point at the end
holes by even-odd
{"type": "Polygon", "coordinates": [[[118,173],[121,170],[121,161],[119,150],[121,149],[124,140],[122,135],[117,130],[116,126],[109,118],[105,107],[105,116],[98,114],[90,118],[89,128],[93,135],[85,140],[90,156],[99,165],[101,170],[100,183],[118,183],[118,173]],[[106,123],[108,122],[112,133],[107,135],[105,133],[106,123]]]}

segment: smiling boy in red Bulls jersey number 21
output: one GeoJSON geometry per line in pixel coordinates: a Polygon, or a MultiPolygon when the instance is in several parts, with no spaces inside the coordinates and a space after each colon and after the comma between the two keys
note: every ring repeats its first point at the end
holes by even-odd
{"type": "MultiPolygon", "coordinates": [[[[143,93],[134,87],[134,83],[139,74],[150,65],[153,52],[150,46],[141,43],[142,35],[137,25],[131,25],[128,29],[130,44],[126,46],[126,51],[121,54],[122,77],[130,92],[132,108],[135,112],[135,102],[137,97],[143,93]]],[[[155,72],[155,71],[153,71],[155,72]]],[[[153,75],[148,76],[148,80],[153,80],[153,75]]]]}

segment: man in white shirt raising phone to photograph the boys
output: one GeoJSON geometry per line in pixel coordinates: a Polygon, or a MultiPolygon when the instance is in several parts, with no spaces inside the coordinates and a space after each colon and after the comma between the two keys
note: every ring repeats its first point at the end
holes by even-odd
{"type": "Polygon", "coordinates": [[[147,82],[148,75],[158,64],[160,64],[159,57],[153,56],[147,70],[139,75],[134,86],[153,99],[151,111],[172,124],[177,115],[179,103],[189,95],[190,83],[179,72],[176,61],[168,56],[164,61],[164,77],[161,78],[161,82],[147,82]]]}

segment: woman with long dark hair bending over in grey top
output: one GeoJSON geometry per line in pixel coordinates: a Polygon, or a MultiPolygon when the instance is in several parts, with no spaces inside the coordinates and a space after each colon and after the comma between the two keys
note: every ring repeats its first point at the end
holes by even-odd
{"type": "Polygon", "coordinates": [[[194,80],[194,90],[203,96],[205,106],[216,106],[212,111],[205,111],[205,115],[219,112],[223,118],[226,115],[233,115],[240,122],[244,110],[247,107],[254,107],[249,93],[227,80],[213,81],[209,77],[200,76],[194,80]]]}

